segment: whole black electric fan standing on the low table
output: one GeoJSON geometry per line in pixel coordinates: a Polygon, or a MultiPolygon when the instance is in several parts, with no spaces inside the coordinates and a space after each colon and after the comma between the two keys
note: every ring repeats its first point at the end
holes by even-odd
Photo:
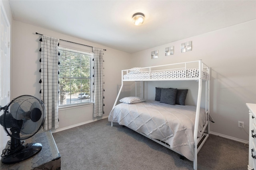
{"type": "Polygon", "coordinates": [[[4,113],[0,116],[0,124],[11,137],[8,147],[3,150],[1,161],[4,164],[17,163],[26,160],[42,149],[41,143],[23,145],[24,139],[35,135],[44,125],[46,109],[38,98],[23,95],[1,107],[4,113]]]}

